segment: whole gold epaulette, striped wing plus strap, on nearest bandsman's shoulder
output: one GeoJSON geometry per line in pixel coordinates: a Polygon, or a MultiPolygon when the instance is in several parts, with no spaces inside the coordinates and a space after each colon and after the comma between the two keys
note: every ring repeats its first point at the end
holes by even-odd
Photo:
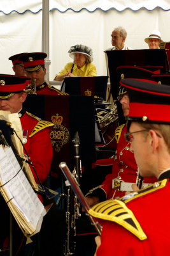
{"type": "Polygon", "coordinates": [[[167,179],[160,180],[144,189],[125,195],[120,198],[120,200],[107,200],[101,202],[100,204],[94,205],[94,207],[89,210],[89,214],[101,220],[113,221],[129,230],[129,232],[138,237],[139,240],[145,240],[147,239],[145,232],[126,204],[140,196],[152,192],[155,193],[155,191],[164,188],[166,184],[167,179]]]}

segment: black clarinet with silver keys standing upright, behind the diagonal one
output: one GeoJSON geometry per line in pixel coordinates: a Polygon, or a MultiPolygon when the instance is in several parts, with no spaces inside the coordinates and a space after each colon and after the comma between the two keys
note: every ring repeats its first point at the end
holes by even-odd
{"type": "MultiPolygon", "coordinates": [[[[77,180],[78,186],[80,186],[81,177],[81,161],[80,161],[80,140],[78,132],[75,133],[72,140],[74,147],[74,170],[73,176],[77,180]]],[[[67,211],[66,211],[66,223],[67,223],[67,238],[64,244],[64,255],[74,255],[76,250],[76,219],[80,218],[80,203],[78,198],[74,195],[73,189],[68,181],[66,181],[67,188],[67,211]]]]}

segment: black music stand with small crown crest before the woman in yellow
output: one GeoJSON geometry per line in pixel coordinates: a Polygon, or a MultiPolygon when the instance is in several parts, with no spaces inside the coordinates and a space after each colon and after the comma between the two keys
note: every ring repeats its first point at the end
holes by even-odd
{"type": "Polygon", "coordinates": [[[61,91],[69,95],[97,96],[106,100],[108,76],[66,77],[61,91]]]}

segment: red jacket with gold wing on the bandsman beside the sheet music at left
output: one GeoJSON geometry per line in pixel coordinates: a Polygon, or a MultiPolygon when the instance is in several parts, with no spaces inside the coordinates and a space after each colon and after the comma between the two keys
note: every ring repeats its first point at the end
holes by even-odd
{"type": "MultiPolygon", "coordinates": [[[[48,177],[52,163],[53,150],[50,140],[50,131],[53,124],[39,120],[39,118],[27,112],[21,113],[20,115],[22,115],[20,121],[23,134],[24,136],[27,134],[27,142],[24,144],[24,147],[31,158],[39,180],[43,183],[48,177]]],[[[31,165],[30,167],[36,183],[39,184],[38,178],[31,165]]]]}

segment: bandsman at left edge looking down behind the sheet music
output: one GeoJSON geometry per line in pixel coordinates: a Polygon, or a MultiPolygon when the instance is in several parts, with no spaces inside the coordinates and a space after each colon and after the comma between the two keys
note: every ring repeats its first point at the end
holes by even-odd
{"type": "MultiPolygon", "coordinates": [[[[27,97],[25,90],[28,81],[28,77],[0,75],[0,110],[18,113],[25,150],[31,158],[39,180],[43,183],[48,177],[52,163],[53,150],[50,131],[53,124],[40,120],[22,108],[22,103],[27,97]]],[[[39,183],[31,165],[30,167],[34,179],[39,183]]]]}

